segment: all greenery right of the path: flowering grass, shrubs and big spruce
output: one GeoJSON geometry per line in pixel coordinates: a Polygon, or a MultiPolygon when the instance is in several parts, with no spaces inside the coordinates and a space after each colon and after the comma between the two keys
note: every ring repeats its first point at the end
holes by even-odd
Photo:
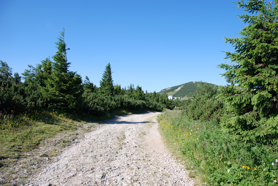
{"type": "Polygon", "coordinates": [[[159,116],[160,129],[182,153],[191,176],[208,185],[277,185],[278,1],[239,1],[249,14],[235,52],[219,64],[227,85],[200,83],[185,106],[159,116]]]}

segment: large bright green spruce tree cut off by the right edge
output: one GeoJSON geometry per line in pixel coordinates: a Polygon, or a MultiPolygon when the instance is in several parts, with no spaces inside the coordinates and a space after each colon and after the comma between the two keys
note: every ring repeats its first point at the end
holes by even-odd
{"type": "Polygon", "coordinates": [[[220,97],[227,103],[222,125],[234,138],[278,147],[278,0],[238,2],[248,14],[240,38],[225,38],[235,52],[226,52],[230,64],[219,64],[230,85],[220,97]]]}

